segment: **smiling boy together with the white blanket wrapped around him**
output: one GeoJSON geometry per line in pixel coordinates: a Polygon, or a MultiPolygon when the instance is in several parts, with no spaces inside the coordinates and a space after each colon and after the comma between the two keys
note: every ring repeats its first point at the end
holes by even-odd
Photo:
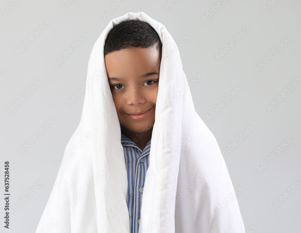
{"type": "Polygon", "coordinates": [[[178,47],[143,12],[111,20],[95,42],[65,153],[36,233],[245,232],[178,47]]]}

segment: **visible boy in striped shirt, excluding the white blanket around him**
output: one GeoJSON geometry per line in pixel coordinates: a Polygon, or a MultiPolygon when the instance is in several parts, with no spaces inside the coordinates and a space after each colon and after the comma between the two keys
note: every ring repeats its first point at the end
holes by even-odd
{"type": "Polygon", "coordinates": [[[157,32],[141,20],[117,24],[104,45],[107,77],[120,122],[127,168],[130,229],[136,233],[155,123],[161,51],[157,32]]]}

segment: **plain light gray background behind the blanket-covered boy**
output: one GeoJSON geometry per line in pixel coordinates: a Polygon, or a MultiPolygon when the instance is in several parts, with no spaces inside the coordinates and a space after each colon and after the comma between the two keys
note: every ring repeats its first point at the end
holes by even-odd
{"type": "MultiPolygon", "coordinates": [[[[301,185],[297,181],[301,183],[301,83],[293,85],[290,93],[286,91],[301,76],[300,1],[273,0],[270,2],[275,5],[271,3],[271,9],[265,9],[267,0],[68,2],[30,0],[14,5],[13,0],[4,0],[0,4],[1,11],[14,6],[8,13],[0,12],[0,193],[4,193],[3,168],[8,160],[11,207],[26,198],[11,214],[9,230],[3,230],[2,221],[1,232],[36,231],[57,176],[57,162],[79,124],[84,93],[71,106],[67,100],[85,86],[92,47],[109,21],[139,11],[165,25],[178,43],[196,111],[215,135],[221,150],[237,142],[224,154],[224,159],[234,189],[241,190],[237,200],[246,231],[300,231],[301,185]],[[114,3],[117,7],[104,17],[103,13],[114,3]],[[164,5],[168,3],[172,4],[164,5]],[[207,11],[218,3],[218,10],[204,20],[207,11]],[[49,25],[36,35],[35,29],[44,20],[49,25]],[[250,29],[235,41],[234,36],[244,26],[250,29]],[[77,48],[72,47],[82,33],[87,33],[87,38],[77,48]],[[32,35],[34,40],[18,54],[20,43],[32,35]],[[273,47],[285,38],[287,44],[277,54],[272,53],[273,47]],[[218,60],[216,54],[231,41],[234,46],[218,60]],[[68,48],[73,52],[56,67],[54,61],[68,48]],[[254,67],[269,53],[273,58],[256,73],[254,67]],[[194,83],[196,75],[202,77],[194,83]],[[34,81],[39,86],[25,96],[23,92],[34,81]],[[234,87],[240,90],[226,102],[234,87]],[[269,111],[267,106],[283,92],[285,97],[269,111]],[[6,110],[20,97],[24,101],[7,114],[6,110]],[[206,116],[221,102],[223,107],[207,120],[206,116]],[[47,120],[53,123],[38,135],[36,131],[47,120]],[[253,129],[240,141],[237,136],[247,126],[253,129]],[[34,135],[38,139],[21,154],[19,148],[34,135]],[[276,153],[275,148],[281,147],[286,138],[291,140],[290,144],[276,153]],[[273,153],[275,157],[268,162],[266,157],[273,153]],[[262,162],[268,165],[259,172],[262,162]],[[30,195],[29,189],[37,181],[43,184],[30,195]],[[295,188],[289,189],[294,184],[295,188]],[[286,192],[286,199],[272,211],[271,206],[286,192]]],[[[4,206],[3,198],[0,206],[4,206]]],[[[3,219],[3,208],[0,216],[3,219]]]]}

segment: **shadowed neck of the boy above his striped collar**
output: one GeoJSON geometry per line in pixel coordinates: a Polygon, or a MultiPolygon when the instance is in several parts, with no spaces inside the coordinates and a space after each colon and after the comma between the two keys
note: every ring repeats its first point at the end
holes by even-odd
{"type": "Polygon", "coordinates": [[[147,132],[133,132],[129,129],[126,129],[124,126],[120,125],[121,132],[123,135],[131,139],[139,148],[143,150],[148,141],[151,139],[153,128],[147,130],[147,132]]]}

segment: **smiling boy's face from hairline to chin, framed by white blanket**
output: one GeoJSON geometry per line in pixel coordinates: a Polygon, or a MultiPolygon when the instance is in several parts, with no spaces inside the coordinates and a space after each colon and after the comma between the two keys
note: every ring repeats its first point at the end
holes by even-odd
{"type": "Polygon", "coordinates": [[[122,49],[104,61],[119,123],[136,133],[152,129],[161,61],[157,49],[122,49]]]}

